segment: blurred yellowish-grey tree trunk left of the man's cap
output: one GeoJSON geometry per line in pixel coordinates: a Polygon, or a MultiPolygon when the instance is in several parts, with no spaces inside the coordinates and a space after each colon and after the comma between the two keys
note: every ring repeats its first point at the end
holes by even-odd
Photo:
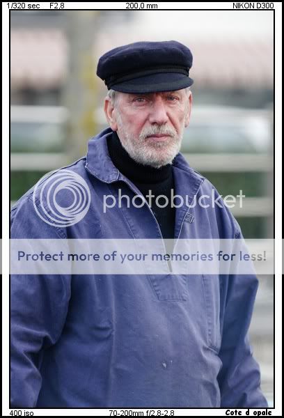
{"type": "Polygon", "coordinates": [[[70,111],[66,140],[72,157],[86,154],[87,141],[96,132],[97,83],[93,43],[97,10],[66,11],[69,42],[69,71],[63,88],[63,104],[70,111]]]}

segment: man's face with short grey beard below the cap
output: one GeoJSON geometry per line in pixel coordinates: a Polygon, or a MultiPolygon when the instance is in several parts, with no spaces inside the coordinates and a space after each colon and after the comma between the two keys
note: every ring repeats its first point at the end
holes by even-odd
{"type": "Polygon", "coordinates": [[[114,107],[106,99],[104,109],[130,157],[156,168],[171,163],[189,125],[191,92],[116,94],[114,107]]]}

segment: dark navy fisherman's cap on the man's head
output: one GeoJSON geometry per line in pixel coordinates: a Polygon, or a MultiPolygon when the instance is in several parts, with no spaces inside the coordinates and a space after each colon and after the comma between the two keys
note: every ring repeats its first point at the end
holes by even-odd
{"type": "Polygon", "coordinates": [[[101,56],[97,76],[123,93],[175,91],[193,84],[191,65],[189,48],[176,40],[134,42],[101,56]]]}

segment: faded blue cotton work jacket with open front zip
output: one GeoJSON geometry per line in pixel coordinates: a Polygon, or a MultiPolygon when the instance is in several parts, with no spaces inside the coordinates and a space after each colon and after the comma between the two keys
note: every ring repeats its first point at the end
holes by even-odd
{"type": "MultiPolygon", "coordinates": [[[[111,132],[90,139],[86,157],[68,166],[90,189],[84,219],[47,224],[31,189],[12,208],[11,238],[162,240],[147,205],[122,201],[103,212],[103,196],[117,196],[118,187],[141,194],[109,157],[111,132]]],[[[173,175],[175,194],[187,201],[214,189],[180,153],[173,175]]],[[[241,235],[224,205],[176,209],[175,238],[241,235]]],[[[11,406],[267,407],[248,341],[257,288],[253,274],[13,274],[11,406]]]]}

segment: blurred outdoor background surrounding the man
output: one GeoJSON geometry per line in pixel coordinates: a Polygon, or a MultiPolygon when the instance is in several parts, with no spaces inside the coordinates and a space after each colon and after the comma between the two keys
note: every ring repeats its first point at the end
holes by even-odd
{"type": "MultiPolygon", "coordinates": [[[[274,237],[274,17],[265,10],[10,11],[10,196],[86,155],[107,127],[97,60],[139,40],[178,40],[194,56],[182,153],[219,193],[245,238],[274,237]]],[[[260,275],[251,343],[274,402],[274,281],[260,275]]]]}

